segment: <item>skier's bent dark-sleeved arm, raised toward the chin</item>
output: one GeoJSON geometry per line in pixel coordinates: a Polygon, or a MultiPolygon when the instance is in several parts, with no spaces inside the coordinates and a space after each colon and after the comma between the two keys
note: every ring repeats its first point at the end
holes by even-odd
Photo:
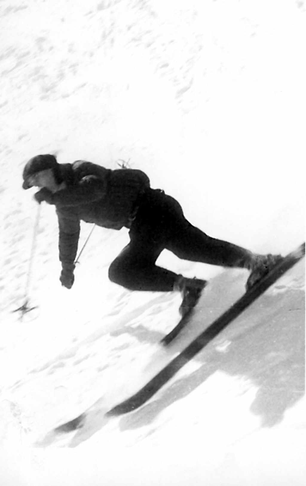
{"type": "Polygon", "coordinates": [[[106,180],[86,175],[78,185],[70,186],[53,194],[52,204],[57,208],[79,206],[102,199],[106,194],[106,180]]]}

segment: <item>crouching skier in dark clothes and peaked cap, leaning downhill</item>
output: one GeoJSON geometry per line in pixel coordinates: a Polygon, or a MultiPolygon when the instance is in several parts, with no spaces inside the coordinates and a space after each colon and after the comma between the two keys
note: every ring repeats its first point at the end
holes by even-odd
{"type": "Polygon", "coordinates": [[[281,258],[258,255],[233,243],[209,237],[184,217],[180,204],[135,169],[110,170],[77,160],[59,164],[53,155],[31,158],[23,170],[23,189],[40,204],[54,205],[59,224],[60,281],[71,289],[80,234],[80,220],[98,226],[129,229],[130,243],[109,267],[109,278],[131,290],[180,291],[184,316],[197,303],[205,280],[187,278],[155,265],[167,249],[177,257],[250,270],[246,289],[267,274],[281,258]]]}

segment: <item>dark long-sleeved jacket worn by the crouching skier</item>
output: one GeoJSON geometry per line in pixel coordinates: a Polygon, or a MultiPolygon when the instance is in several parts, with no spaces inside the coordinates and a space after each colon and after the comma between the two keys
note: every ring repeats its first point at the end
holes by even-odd
{"type": "Polygon", "coordinates": [[[60,164],[66,188],[53,194],[59,225],[59,259],[63,267],[76,257],[80,220],[105,228],[129,227],[137,200],[150,180],[136,169],[110,170],[77,160],[60,164]]]}

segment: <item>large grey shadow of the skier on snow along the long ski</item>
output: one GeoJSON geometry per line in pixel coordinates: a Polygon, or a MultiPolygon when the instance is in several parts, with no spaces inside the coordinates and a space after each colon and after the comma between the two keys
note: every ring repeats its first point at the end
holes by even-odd
{"type": "MultiPolygon", "coordinates": [[[[233,275],[228,275],[229,279],[233,278],[233,275]]],[[[222,278],[224,279],[224,274],[222,278]]],[[[241,278],[234,283],[231,281],[231,289],[234,291],[228,295],[229,300],[233,298],[235,289],[237,294],[241,294],[240,282],[241,278]]],[[[212,306],[218,307],[218,302],[224,300],[224,296],[221,295],[221,288],[218,292],[218,278],[215,284],[211,292],[214,295],[212,306]]],[[[224,290],[224,285],[222,288],[224,290]]],[[[232,302],[237,296],[235,295],[232,302]]],[[[226,303],[225,308],[227,307],[226,303]]],[[[159,413],[189,395],[216,371],[241,377],[258,389],[251,412],[260,417],[261,426],[272,427],[281,422],[285,411],[305,394],[304,309],[305,297],[302,289],[279,288],[279,292],[274,295],[263,295],[236,320],[235,325],[228,328],[225,337],[230,344],[225,346],[225,350],[222,350],[224,336],[221,333],[194,358],[197,362],[205,362],[199,369],[162,388],[148,404],[133,414],[122,417],[119,421],[120,430],[136,429],[150,424],[159,413]],[[218,351],[218,345],[221,351],[218,351]]],[[[189,339],[184,342],[184,346],[181,342],[180,349],[203,330],[203,322],[206,325],[212,322],[211,317],[211,308],[202,308],[198,312],[196,322],[192,323],[193,335],[190,339],[189,329],[189,339]]],[[[183,340],[183,336],[181,339],[183,340]]],[[[179,339],[177,344],[173,344],[173,351],[180,350],[178,342],[179,339]]]]}

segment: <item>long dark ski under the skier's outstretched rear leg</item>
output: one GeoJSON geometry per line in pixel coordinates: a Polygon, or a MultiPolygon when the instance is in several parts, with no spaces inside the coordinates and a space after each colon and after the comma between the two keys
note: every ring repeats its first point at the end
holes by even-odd
{"type": "MultiPolygon", "coordinates": [[[[130,398],[119,403],[110,409],[106,416],[116,416],[127,414],[139,408],[146,403],[153,395],[162,388],[164,384],[188,363],[199,351],[215,338],[221,330],[226,328],[241,312],[250,306],[255,299],[262,295],[273,283],[287,272],[295,263],[301,260],[305,255],[305,243],[301,244],[296,250],[289,253],[281,260],[272,270],[254,287],[240,297],[227,311],[221,314],[207,329],[196,337],[176,358],[170,361],[152,380],[143,386],[138,392],[130,398]]],[[[174,328],[175,329],[175,328],[174,328]]]]}

